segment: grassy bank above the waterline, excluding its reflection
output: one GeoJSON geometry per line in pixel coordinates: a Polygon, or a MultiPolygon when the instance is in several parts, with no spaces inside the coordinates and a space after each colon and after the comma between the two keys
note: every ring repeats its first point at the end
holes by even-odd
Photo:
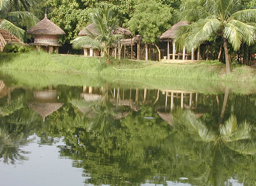
{"type": "Polygon", "coordinates": [[[115,60],[106,65],[103,58],[84,58],[82,56],[50,55],[43,52],[23,54],[1,53],[0,70],[34,71],[34,73],[59,72],[92,74],[92,76],[123,77],[123,79],[160,78],[206,80],[221,82],[256,82],[256,69],[248,66],[232,65],[232,73],[225,74],[225,65],[217,62],[191,64],[170,64],[135,60],[115,60]]]}

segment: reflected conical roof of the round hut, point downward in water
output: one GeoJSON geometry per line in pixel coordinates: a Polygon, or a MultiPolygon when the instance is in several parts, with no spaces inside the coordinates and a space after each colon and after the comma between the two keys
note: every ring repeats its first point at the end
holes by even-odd
{"type": "Polygon", "coordinates": [[[36,113],[41,115],[42,120],[45,121],[45,118],[50,115],[52,112],[58,110],[62,107],[63,103],[38,103],[38,102],[29,102],[28,106],[33,109],[36,113]]]}

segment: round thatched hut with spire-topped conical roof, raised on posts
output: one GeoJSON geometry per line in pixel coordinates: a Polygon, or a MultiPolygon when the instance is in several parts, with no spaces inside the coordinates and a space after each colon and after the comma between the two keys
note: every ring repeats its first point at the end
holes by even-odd
{"type": "Polygon", "coordinates": [[[58,43],[58,36],[65,35],[66,33],[55,25],[52,21],[47,18],[47,14],[45,14],[45,18],[40,20],[35,26],[31,27],[27,34],[34,35],[34,50],[41,49],[41,47],[45,51],[49,51],[49,53],[53,53],[53,49],[55,48],[56,53],[58,53],[58,48],[61,46],[58,43]]]}

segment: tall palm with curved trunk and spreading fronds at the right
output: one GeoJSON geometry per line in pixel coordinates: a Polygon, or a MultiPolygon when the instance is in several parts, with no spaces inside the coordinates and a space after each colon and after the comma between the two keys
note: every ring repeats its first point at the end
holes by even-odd
{"type": "Polygon", "coordinates": [[[228,43],[237,51],[242,42],[251,45],[256,40],[256,9],[243,10],[242,4],[243,0],[207,0],[201,9],[182,11],[182,19],[196,22],[183,27],[177,41],[192,50],[218,34],[223,41],[226,73],[230,73],[228,43]]]}

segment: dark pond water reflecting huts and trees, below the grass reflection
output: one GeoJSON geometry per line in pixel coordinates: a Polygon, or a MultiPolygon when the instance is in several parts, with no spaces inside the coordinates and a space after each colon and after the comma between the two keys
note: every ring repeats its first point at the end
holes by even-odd
{"type": "Polygon", "coordinates": [[[253,185],[256,92],[0,81],[1,185],[253,185]]]}

